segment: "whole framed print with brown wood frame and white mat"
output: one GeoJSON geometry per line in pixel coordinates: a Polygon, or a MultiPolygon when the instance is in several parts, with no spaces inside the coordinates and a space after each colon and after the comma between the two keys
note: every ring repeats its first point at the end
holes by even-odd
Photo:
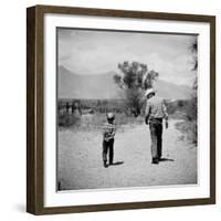
{"type": "Polygon", "coordinates": [[[215,203],[215,18],[27,10],[27,211],[215,203]]]}

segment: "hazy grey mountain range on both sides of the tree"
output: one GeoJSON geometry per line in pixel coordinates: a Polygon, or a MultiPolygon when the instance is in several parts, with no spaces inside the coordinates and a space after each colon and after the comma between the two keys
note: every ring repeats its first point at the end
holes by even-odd
{"type": "MultiPolygon", "coordinates": [[[[104,74],[77,74],[59,66],[59,98],[110,99],[120,98],[122,90],[115,84],[115,72],[104,74]]],[[[166,99],[188,99],[191,88],[158,80],[155,85],[159,96],[166,99]]]]}

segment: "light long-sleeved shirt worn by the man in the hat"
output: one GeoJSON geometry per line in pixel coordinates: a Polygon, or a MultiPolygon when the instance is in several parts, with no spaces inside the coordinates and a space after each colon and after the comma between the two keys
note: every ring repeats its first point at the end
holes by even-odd
{"type": "Polygon", "coordinates": [[[147,99],[145,115],[148,119],[168,118],[165,101],[156,95],[147,99]]]}

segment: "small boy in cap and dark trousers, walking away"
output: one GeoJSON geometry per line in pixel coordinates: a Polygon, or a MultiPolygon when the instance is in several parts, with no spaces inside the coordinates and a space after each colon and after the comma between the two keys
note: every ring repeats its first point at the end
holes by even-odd
{"type": "Polygon", "coordinates": [[[107,114],[107,123],[103,129],[103,162],[107,168],[107,152],[109,154],[109,165],[113,165],[114,159],[114,136],[116,133],[116,125],[114,124],[115,116],[113,113],[107,114]]]}

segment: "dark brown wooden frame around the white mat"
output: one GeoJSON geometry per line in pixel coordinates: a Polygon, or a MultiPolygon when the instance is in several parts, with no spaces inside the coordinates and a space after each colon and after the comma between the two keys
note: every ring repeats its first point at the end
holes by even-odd
{"type": "Polygon", "coordinates": [[[92,212],[215,203],[215,18],[88,8],[35,6],[27,10],[27,211],[33,214],[92,212]],[[44,207],[44,14],[86,14],[138,18],[210,24],[210,197],[147,202],[124,202],[73,207],[44,207]]]}

